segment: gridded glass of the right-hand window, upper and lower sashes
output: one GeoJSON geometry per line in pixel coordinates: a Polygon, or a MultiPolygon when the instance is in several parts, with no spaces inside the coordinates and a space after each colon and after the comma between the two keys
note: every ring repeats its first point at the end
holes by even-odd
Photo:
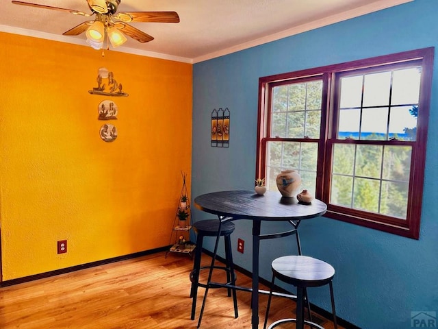
{"type": "Polygon", "coordinates": [[[415,146],[407,141],[416,139],[421,72],[413,62],[335,73],[340,86],[337,138],[352,141],[333,142],[330,204],[407,220],[406,173],[415,146]],[[400,145],[357,142],[391,139],[400,145]]]}

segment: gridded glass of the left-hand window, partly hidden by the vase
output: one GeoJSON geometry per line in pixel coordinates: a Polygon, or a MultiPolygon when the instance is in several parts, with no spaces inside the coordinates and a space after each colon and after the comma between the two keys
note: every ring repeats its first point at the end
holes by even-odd
{"type": "Polygon", "coordinates": [[[300,173],[314,193],[321,130],[320,77],[273,84],[271,119],[266,139],[266,186],[276,188],[276,175],[286,169],[300,173]]]}

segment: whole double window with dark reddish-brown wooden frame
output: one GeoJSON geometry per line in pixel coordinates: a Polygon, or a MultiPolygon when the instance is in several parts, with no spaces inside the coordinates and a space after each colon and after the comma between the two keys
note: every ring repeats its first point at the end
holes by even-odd
{"type": "Polygon", "coordinates": [[[261,77],[257,177],[297,170],[326,217],[418,239],[433,53],[261,77]]]}

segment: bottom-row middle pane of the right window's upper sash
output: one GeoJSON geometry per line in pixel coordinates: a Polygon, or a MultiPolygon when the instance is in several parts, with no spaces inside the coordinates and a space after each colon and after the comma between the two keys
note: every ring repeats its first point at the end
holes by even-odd
{"type": "Polygon", "coordinates": [[[360,139],[385,141],[387,139],[387,125],[388,108],[364,108],[360,139]]]}

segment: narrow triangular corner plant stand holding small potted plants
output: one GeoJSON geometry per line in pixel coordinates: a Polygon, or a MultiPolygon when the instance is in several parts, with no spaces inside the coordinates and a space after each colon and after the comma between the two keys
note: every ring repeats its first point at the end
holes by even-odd
{"type": "Polygon", "coordinates": [[[178,254],[186,254],[193,257],[193,251],[196,245],[190,242],[190,230],[192,230],[192,220],[190,212],[190,197],[185,185],[186,173],[182,173],[183,187],[179,195],[179,202],[175,219],[173,221],[172,233],[170,234],[170,249],[166,252],[166,257],[169,252],[176,252],[178,254]],[[181,220],[182,219],[182,220],[181,220]]]}

